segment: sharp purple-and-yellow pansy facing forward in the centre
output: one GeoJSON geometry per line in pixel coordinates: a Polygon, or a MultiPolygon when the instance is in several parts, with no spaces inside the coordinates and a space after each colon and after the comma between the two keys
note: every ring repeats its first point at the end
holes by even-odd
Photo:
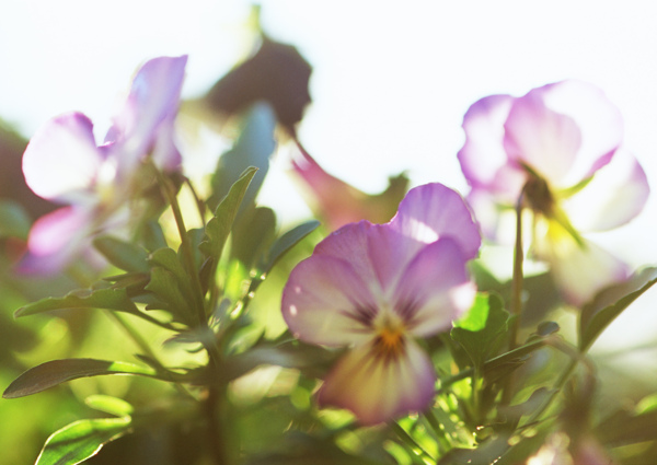
{"type": "Polygon", "coordinates": [[[347,224],[290,274],[283,314],[300,339],[348,347],[319,392],[320,405],[351,410],[362,425],[427,408],[436,374],[416,338],[448,330],[473,302],[465,264],[479,228],[456,191],[408,191],[384,224],[347,224]]]}

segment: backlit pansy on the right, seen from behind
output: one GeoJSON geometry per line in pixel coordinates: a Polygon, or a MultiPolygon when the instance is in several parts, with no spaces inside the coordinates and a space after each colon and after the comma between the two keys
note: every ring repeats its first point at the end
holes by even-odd
{"type": "Polygon", "coordinates": [[[599,89],[569,80],[521,97],[487,96],[470,107],[463,129],[458,158],[484,236],[515,237],[509,226],[522,195],[533,213],[532,253],[567,302],[580,305],[629,277],[626,264],[583,235],[626,223],[649,191],[643,168],[621,148],[620,112],[599,89]]]}

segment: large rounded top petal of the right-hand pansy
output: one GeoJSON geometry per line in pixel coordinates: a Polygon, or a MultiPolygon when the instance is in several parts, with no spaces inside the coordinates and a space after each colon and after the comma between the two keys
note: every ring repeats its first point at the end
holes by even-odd
{"type": "Polygon", "coordinates": [[[619,109],[598,88],[576,80],[530,91],[505,125],[509,158],[567,187],[609,163],[623,137],[619,109]]]}

